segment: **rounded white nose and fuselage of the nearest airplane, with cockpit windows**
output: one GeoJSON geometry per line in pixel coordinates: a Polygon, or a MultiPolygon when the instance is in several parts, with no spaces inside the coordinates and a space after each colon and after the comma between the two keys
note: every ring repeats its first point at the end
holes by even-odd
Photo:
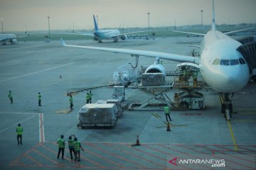
{"type": "Polygon", "coordinates": [[[240,91],[250,79],[250,70],[236,50],[241,45],[218,30],[210,30],[202,42],[199,68],[206,84],[221,93],[240,91]]]}

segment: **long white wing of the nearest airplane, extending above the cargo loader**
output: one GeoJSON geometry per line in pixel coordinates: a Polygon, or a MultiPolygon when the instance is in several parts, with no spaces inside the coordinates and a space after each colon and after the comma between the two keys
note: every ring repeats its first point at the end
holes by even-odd
{"type": "Polygon", "coordinates": [[[121,49],[121,48],[108,48],[108,47],[91,47],[91,46],[82,46],[82,45],[67,45],[62,38],[61,45],[63,47],[75,47],[75,48],[82,48],[88,50],[100,50],[106,52],[114,52],[114,53],[122,53],[127,55],[142,55],[146,57],[159,57],[161,59],[172,60],[176,62],[192,62],[198,64],[199,58],[198,57],[191,57],[187,55],[174,55],[165,52],[153,52],[153,51],[146,51],[146,50],[130,50],[130,49],[121,49]]]}

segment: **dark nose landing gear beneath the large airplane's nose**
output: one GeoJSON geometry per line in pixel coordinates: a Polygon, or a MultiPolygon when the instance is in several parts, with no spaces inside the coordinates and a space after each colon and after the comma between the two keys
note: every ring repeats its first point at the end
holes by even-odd
{"type": "Polygon", "coordinates": [[[230,118],[232,118],[233,105],[230,98],[232,98],[233,95],[234,94],[220,93],[221,113],[224,113],[224,118],[227,121],[230,121],[230,118]]]}

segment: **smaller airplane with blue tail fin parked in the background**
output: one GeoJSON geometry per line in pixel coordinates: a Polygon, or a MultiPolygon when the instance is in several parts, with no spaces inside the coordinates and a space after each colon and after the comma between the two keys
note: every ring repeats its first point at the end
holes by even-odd
{"type": "Polygon", "coordinates": [[[99,29],[97,26],[95,15],[93,15],[93,22],[95,26],[95,33],[68,33],[68,34],[91,36],[93,37],[92,40],[102,43],[102,40],[114,40],[114,42],[118,42],[118,38],[120,38],[121,40],[125,40],[127,38],[127,34],[145,32],[143,30],[143,31],[137,31],[132,33],[120,33],[120,31],[117,29],[114,29],[114,30],[99,29]]]}

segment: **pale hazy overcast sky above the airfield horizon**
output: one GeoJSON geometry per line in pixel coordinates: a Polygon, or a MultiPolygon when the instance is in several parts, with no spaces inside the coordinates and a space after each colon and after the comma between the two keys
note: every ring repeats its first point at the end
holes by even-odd
{"type": "MultiPolygon", "coordinates": [[[[92,29],[97,14],[100,28],[184,26],[211,22],[210,0],[0,0],[4,30],[92,29]]],[[[215,0],[215,21],[256,23],[256,0],[215,0]]]]}

